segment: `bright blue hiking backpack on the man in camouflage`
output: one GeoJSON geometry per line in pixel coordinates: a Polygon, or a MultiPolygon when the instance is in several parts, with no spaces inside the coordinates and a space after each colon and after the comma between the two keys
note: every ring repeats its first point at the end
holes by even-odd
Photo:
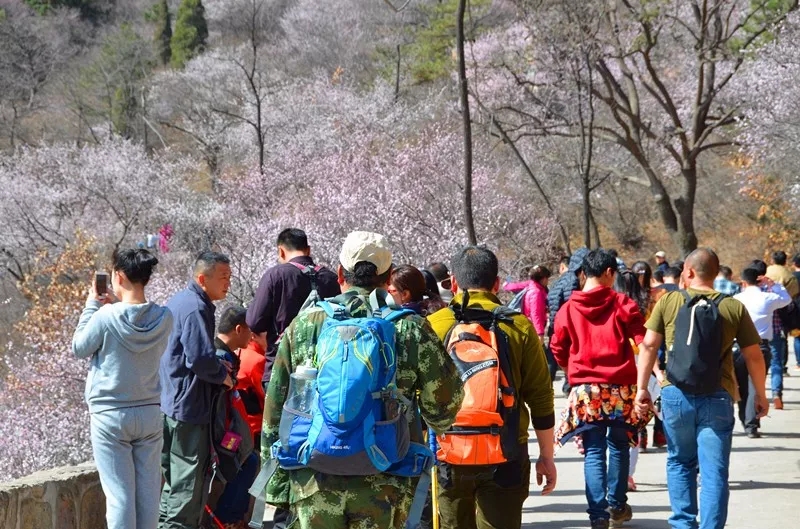
{"type": "Polygon", "coordinates": [[[303,412],[290,408],[287,399],[271,464],[264,465],[250,493],[257,498],[263,494],[276,466],[340,476],[421,476],[409,514],[409,524],[416,526],[430,484],[433,453],[410,442],[409,421],[418,418],[418,412],[395,384],[394,325],[414,312],[391,308],[378,291],[370,295],[368,317],[352,317],[345,305],[333,300],[318,302],[317,307],[327,317],[314,352],[315,405],[310,413],[303,412]]]}

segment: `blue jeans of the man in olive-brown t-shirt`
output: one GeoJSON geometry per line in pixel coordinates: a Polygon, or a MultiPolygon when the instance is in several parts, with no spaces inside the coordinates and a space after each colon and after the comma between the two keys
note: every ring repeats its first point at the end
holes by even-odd
{"type": "Polygon", "coordinates": [[[728,467],[733,439],[733,399],[727,391],[708,395],[661,390],[667,434],[667,490],[672,529],[723,529],[728,518],[728,467]],[[697,472],[700,519],[697,523],[697,472]]]}

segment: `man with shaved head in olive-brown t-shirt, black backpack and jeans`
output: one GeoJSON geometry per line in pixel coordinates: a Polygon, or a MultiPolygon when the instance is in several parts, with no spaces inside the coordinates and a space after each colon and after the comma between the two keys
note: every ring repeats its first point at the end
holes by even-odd
{"type": "Polygon", "coordinates": [[[687,257],[683,281],[687,290],[665,294],[645,326],[639,347],[637,411],[653,405],[646,389],[661,342],[666,338],[667,382],[661,391],[661,413],[667,433],[667,489],[672,529],[723,529],[728,518],[728,468],[733,438],[733,342],[742,349],[756,390],[756,415],[769,411],[766,370],[760,338],[741,302],[713,289],[719,258],[709,248],[687,257]],[[687,297],[689,298],[687,300],[687,297]],[[705,365],[705,372],[693,372],[705,365]],[[700,490],[698,526],[697,473],[700,490]]]}

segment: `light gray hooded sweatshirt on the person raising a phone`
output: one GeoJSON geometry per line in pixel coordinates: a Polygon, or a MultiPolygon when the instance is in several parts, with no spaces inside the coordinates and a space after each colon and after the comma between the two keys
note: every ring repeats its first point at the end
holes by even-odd
{"type": "Polygon", "coordinates": [[[169,309],[155,303],[86,302],[72,336],[72,352],[90,358],[89,412],[158,405],[158,364],[172,330],[169,309]]]}

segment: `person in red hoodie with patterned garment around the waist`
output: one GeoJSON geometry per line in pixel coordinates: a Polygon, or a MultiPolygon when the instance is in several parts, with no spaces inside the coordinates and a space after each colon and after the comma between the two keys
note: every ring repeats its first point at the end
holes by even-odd
{"type": "Polygon", "coordinates": [[[550,342],[572,384],[555,435],[561,445],[574,435],[583,437],[586,512],[592,529],[608,529],[622,527],[633,516],[627,496],[628,448],[642,423],[633,409],[631,341],[639,344],[644,338],[644,318],[635,301],[611,289],[617,274],[611,254],[589,252],[582,269],[583,290],[573,292],[559,310],[550,342]]]}

